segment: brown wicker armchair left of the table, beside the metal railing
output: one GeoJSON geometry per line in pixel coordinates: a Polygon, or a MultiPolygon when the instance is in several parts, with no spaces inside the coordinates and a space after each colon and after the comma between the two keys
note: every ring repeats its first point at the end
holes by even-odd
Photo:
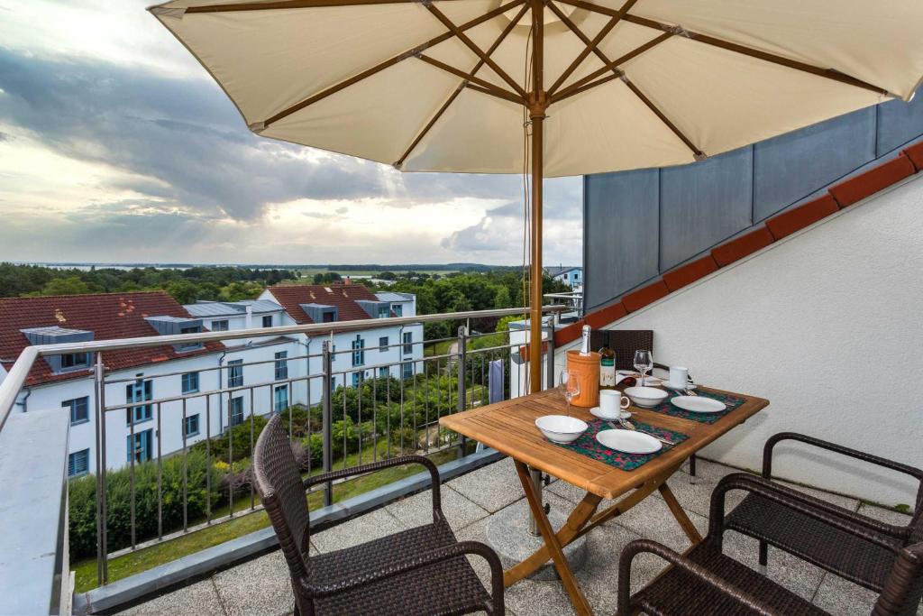
{"type": "Polygon", "coordinates": [[[270,419],[254,452],[254,482],[279,537],[294,591],[295,614],[503,614],[503,569],[483,543],[459,542],[442,513],[432,462],[406,455],[302,481],[282,417],[270,419]],[[389,537],[310,556],[306,488],[388,466],[419,464],[432,478],[433,523],[389,537]],[[487,593],[466,554],[490,566],[487,593]]]}

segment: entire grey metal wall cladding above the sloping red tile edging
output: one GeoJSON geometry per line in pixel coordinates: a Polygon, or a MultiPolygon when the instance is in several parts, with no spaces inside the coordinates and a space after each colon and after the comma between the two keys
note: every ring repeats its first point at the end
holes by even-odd
{"type": "Polygon", "coordinates": [[[701,163],[587,175],[584,306],[611,303],[921,136],[917,96],[701,163]]]}

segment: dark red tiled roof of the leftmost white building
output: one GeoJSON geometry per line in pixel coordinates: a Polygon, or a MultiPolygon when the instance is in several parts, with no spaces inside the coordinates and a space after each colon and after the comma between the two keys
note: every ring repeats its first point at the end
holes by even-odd
{"type": "MultiPolygon", "coordinates": [[[[107,293],[85,296],[10,297],[0,299],[0,358],[15,360],[29,340],[20,330],[59,326],[93,332],[93,340],[156,336],[145,317],[190,317],[173,297],[163,291],[142,293],[107,293]]],[[[158,363],[180,357],[220,352],[221,343],[206,344],[204,349],[177,353],[171,345],[126,349],[104,353],[106,368],[124,369],[158,363]]],[[[54,374],[43,359],[35,362],[26,380],[28,385],[86,378],[87,372],[76,370],[54,374]]]]}

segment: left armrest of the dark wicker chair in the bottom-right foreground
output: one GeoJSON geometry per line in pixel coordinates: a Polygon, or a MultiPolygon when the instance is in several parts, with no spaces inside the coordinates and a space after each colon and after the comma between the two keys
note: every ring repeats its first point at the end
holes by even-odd
{"type": "Polygon", "coordinates": [[[715,590],[721,592],[722,594],[736,598],[741,603],[747,605],[751,610],[764,614],[765,616],[781,616],[781,614],[783,614],[783,612],[775,610],[772,606],[767,605],[758,598],[755,598],[746,590],[729,584],[727,581],[713,574],[697,562],[690,561],[685,556],[677,554],[677,552],[670,550],[664,545],[661,545],[650,539],[636,539],[625,546],[625,548],[622,550],[622,555],[618,560],[617,616],[629,616],[631,613],[631,562],[634,560],[634,557],[638,554],[641,554],[641,552],[659,556],[678,569],[682,569],[686,574],[697,578],[703,584],[712,586],[715,590]]]}

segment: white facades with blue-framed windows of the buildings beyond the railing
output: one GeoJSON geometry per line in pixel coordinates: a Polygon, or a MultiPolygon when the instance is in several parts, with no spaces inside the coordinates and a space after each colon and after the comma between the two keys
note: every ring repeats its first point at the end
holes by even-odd
{"type": "MultiPolygon", "coordinates": [[[[394,297],[393,303],[401,305],[403,316],[415,315],[414,296],[394,297]]],[[[222,308],[218,304],[205,305],[211,309],[210,315],[197,314],[203,311],[197,309],[203,306],[201,304],[186,308],[191,308],[194,316],[203,320],[206,329],[210,329],[215,320],[226,320],[228,331],[243,330],[248,326],[259,328],[264,324],[264,317],[271,318],[273,327],[294,325],[294,320],[281,306],[269,309],[269,302],[250,302],[252,309],[242,312],[226,305],[222,308]]],[[[367,331],[335,333],[328,338],[315,336],[308,339],[304,334],[296,334],[229,340],[225,342],[227,348],[224,352],[117,370],[106,374],[105,405],[111,408],[139,403],[136,414],[138,421],[134,426],[134,449],[138,453],[136,459],[155,459],[157,453],[167,455],[183,448],[183,402],[159,401],[184,394],[193,396],[186,399],[186,417],[190,418],[190,428],[193,429],[186,437],[187,446],[205,439],[207,433],[211,437],[220,435],[230,422],[241,418],[246,420],[251,411],[257,415],[267,415],[274,408],[304,405],[306,402],[318,404],[322,399],[323,381],[319,375],[322,372],[320,354],[324,339],[331,340],[336,351],[333,356],[334,386],[351,386],[357,380],[383,376],[385,373],[402,379],[407,374],[419,371],[421,368],[418,362],[423,357],[423,325],[375,325],[374,320],[369,320],[370,329],[367,331]],[[353,343],[357,340],[362,342],[363,349],[354,354],[353,343]],[[380,344],[385,344],[387,348],[377,348],[380,344]],[[197,391],[228,388],[229,378],[236,376],[237,368],[231,368],[234,362],[243,364],[240,368],[242,378],[237,381],[243,389],[220,395],[195,396],[197,391]],[[184,377],[192,373],[198,376],[184,377]],[[318,376],[306,379],[307,375],[318,376]],[[184,392],[184,384],[190,385],[191,380],[198,380],[198,389],[184,392]],[[148,394],[150,412],[146,408],[149,406],[145,399],[148,394]],[[130,395],[138,395],[138,398],[133,399],[130,395]]],[[[269,323],[266,326],[269,327],[269,323]]],[[[5,377],[6,370],[0,368],[0,382],[5,377]]],[[[80,417],[70,428],[68,453],[75,456],[75,464],[86,459],[86,472],[95,473],[96,401],[94,382],[89,371],[86,378],[24,388],[18,396],[18,410],[62,408],[68,401],[75,400],[82,402],[78,403],[80,417]],[[83,408],[86,408],[85,419],[82,417],[83,408]]],[[[69,410],[63,409],[63,412],[69,410]]],[[[132,427],[127,421],[128,417],[125,408],[106,412],[106,466],[109,469],[129,464],[132,427]]]]}

